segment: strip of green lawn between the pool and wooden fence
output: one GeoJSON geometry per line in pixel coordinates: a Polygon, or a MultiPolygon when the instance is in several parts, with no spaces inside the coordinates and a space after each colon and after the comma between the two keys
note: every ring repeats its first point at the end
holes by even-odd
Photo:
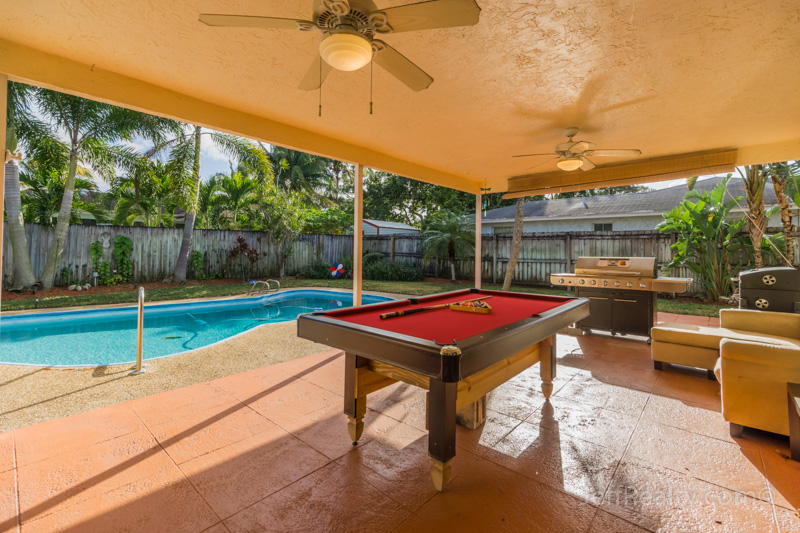
{"type": "MultiPolygon", "coordinates": [[[[349,289],[352,288],[352,280],[349,279],[298,279],[285,280],[281,282],[282,288],[292,287],[331,287],[349,289]]],[[[147,287],[147,283],[144,284],[147,287]]],[[[467,282],[451,283],[431,283],[431,282],[404,282],[404,281],[364,281],[364,290],[376,292],[388,292],[397,294],[410,294],[414,296],[424,296],[438,292],[447,292],[459,288],[470,287],[467,282]]],[[[486,289],[500,289],[500,285],[487,283],[483,285],[486,289]]],[[[534,294],[552,294],[565,296],[569,293],[563,290],[547,289],[543,287],[513,287],[515,291],[528,292],[534,294]]],[[[248,283],[231,284],[197,284],[184,285],[169,288],[150,289],[147,291],[148,302],[158,302],[165,300],[186,300],[192,298],[224,298],[244,294],[250,290],[248,283]]],[[[136,291],[110,292],[110,293],[86,293],[76,294],[75,296],[53,296],[41,297],[39,299],[39,309],[54,309],[59,307],[78,307],[86,305],[110,305],[135,303],[137,298],[136,291]]],[[[34,298],[20,300],[3,300],[2,311],[22,311],[33,309],[35,306],[34,298]]],[[[682,315],[697,316],[719,316],[720,306],[713,304],[701,304],[692,301],[681,301],[671,299],[659,299],[658,310],[665,313],[676,313],[682,315]]]]}

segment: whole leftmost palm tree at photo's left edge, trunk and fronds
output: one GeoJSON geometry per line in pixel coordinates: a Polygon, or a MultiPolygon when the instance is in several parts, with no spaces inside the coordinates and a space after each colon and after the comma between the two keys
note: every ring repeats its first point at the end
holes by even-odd
{"type": "Polygon", "coordinates": [[[22,155],[17,151],[19,137],[35,125],[28,107],[30,87],[20,83],[8,82],[8,103],[6,117],[5,146],[5,204],[8,218],[8,236],[14,263],[11,268],[12,290],[22,290],[36,283],[31,258],[28,253],[28,240],[25,237],[25,223],[22,217],[22,197],[20,196],[19,161],[22,155]]]}

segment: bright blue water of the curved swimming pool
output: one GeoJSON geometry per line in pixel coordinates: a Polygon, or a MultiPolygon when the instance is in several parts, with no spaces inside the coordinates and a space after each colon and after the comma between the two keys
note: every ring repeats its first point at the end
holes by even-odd
{"type": "MultiPolygon", "coordinates": [[[[389,300],[363,297],[363,303],[389,300]]],[[[292,290],[269,296],[154,304],[144,309],[143,358],[195,350],[263,324],[353,305],[350,294],[292,290]]],[[[231,353],[231,357],[236,357],[231,353]]],[[[98,366],[136,360],[136,307],[0,318],[0,363],[98,366]]]]}

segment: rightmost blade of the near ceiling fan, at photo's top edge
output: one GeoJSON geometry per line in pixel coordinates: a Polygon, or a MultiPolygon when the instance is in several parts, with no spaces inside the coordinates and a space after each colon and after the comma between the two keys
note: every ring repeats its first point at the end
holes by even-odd
{"type": "Polygon", "coordinates": [[[432,0],[418,4],[382,9],[395,33],[474,26],[480,18],[481,8],[475,0],[432,0]]]}

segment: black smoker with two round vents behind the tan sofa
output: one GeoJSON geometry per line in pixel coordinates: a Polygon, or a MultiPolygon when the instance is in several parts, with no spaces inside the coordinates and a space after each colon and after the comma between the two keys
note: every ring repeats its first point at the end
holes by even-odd
{"type": "Polygon", "coordinates": [[[742,272],[739,308],[800,313],[800,270],[776,267],[742,272]]]}

